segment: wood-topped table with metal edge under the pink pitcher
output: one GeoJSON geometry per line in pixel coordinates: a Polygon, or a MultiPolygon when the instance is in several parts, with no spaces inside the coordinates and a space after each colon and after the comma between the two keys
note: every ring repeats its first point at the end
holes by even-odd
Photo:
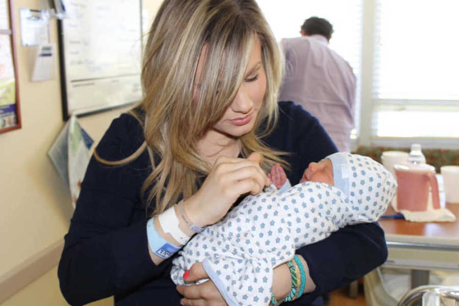
{"type": "MultiPolygon", "coordinates": [[[[459,204],[446,203],[455,222],[381,219],[389,248],[387,267],[412,269],[412,287],[428,284],[429,270],[459,271],[459,204]]],[[[389,206],[386,215],[395,214],[389,206]]]]}

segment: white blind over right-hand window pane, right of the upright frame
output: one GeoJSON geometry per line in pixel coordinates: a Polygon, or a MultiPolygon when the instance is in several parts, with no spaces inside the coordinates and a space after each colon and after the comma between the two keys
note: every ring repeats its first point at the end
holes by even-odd
{"type": "Polygon", "coordinates": [[[457,146],[457,12],[459,2],[450,0],[375,0],[372,135],[376,142],[406,138],[406,146],[414,138],[431,143],[450,138],[457,146]]]}

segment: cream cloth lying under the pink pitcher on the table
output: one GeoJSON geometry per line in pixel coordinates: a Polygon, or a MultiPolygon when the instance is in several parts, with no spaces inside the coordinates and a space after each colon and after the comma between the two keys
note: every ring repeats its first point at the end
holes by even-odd
{"type": "MultiPolygon", "coordinates": [[[[429,195],[427,210],[422,212],[412,212],[409,210],[397,209],[397,196],[391,202],[392,208],[403,215],[405,220],[413,222],[454,222],[456,216],[447,208],[433,209],[432,197],[429,195]]],[[[440,196],[440,206],[444,206],[444,196],[440,196]]]]}

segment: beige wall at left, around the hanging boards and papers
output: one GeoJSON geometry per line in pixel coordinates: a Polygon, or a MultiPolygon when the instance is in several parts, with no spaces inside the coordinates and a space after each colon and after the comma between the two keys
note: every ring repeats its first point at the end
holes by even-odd
{"type": "MultiPolygon", "coordinates": [[[[161,3],[161,0],[143,1],[150,17],[161,3]]],[[[59,78],[30,82],[29,59],[35,49],[23,47],[20,42],[19,8],[38,9],[40,2],[14,0],[13,3],[22,129],[0,134],[0,278],[62,239],[73,212],[69,191],[47,157],[49,146],[64,125],[59,78]]],[[[49,33],[50,42],[57,42],[55,20],[50,22],[49,33]]],[[[120,112],[87,116],[80,122],[98,141],[120,112]]],[[[66,305],[56,275],[57,268],[50,270],[2,306],[66,305]]]]}

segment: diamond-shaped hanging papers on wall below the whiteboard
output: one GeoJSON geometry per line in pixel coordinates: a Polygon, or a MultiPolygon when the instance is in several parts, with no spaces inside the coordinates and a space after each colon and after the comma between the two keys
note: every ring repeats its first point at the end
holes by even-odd
{"type": "Polygon", "coordinates": [[[70,189],[73,209],[80,195],[93,143],[94,140],[81,127],[77,118],[71,116],[48,151],[48,156],[70,189]]]}

